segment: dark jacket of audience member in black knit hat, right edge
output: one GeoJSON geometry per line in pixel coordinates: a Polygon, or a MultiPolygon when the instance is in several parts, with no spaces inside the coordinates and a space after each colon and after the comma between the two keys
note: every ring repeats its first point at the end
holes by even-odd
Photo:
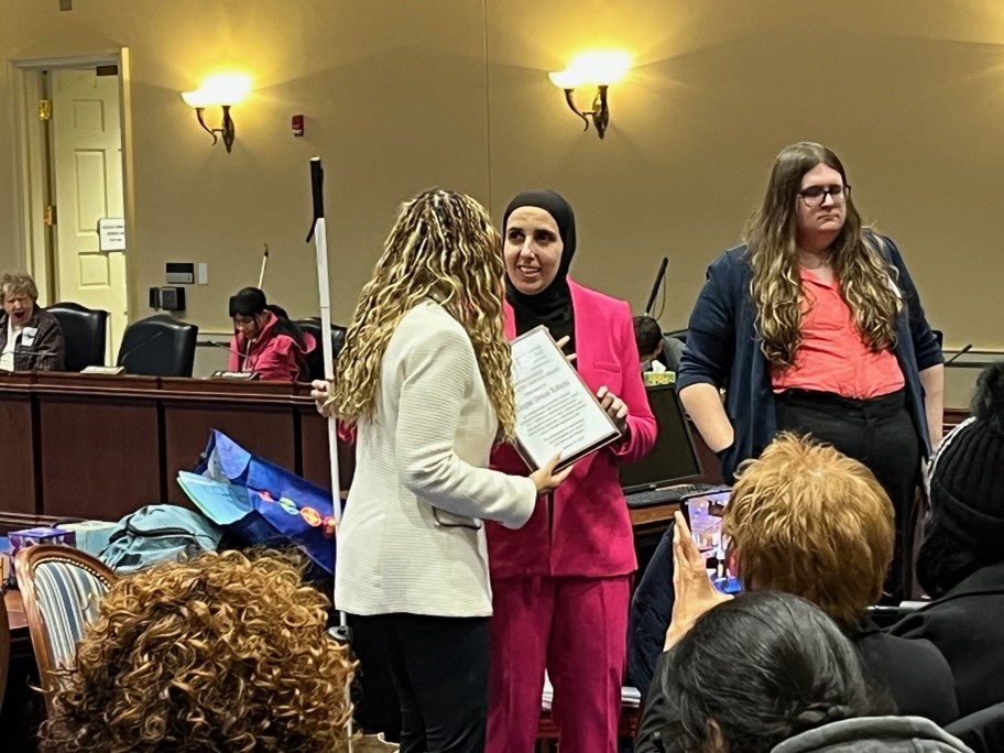
{"type": "Polygon", "coordinates": [[[940,650],[963,714],[1004,701],[1004,561],[976,570],[890,632],[940,650]]]}

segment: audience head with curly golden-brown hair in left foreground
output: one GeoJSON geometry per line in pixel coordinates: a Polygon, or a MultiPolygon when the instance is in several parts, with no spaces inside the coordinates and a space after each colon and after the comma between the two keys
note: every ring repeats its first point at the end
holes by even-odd
{"type": "Polygon", "coordinates": [[[45,751],[336,751],[352,665],[328,600],[237,552],[118,581],[61,670],[45,751]]]}

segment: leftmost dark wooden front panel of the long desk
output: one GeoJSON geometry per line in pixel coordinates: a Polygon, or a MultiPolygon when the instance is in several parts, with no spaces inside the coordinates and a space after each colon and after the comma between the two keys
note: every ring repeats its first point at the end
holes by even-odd
{"type": "Polygon", "coordinates": [[[33,514],[41,503],[35,473],[32,374],[0,374],[0,506],[33,514]]]}

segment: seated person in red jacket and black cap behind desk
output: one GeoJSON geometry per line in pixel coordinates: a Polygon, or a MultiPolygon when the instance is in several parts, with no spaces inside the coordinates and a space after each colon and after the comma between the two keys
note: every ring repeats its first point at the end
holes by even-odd
{"type": "Polygon", "coordinates": [[[290,321],[281,308],[270,306],[264,293],[257,287],[240,291],[230,298],[230,371],[257,371],[274,382],[299,379],[314,338],[290,321]]]}

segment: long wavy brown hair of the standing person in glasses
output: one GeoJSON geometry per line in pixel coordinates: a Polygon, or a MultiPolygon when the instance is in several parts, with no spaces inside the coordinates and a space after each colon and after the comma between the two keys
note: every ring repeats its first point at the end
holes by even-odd
{"type": "MultiPolygon", "coordinates": [[[[782,369],[795,363],[801,343],[796,201],[803,176],[819,164],[836,170],[848,185],[843,164],[831,150],[812,142],[785,146],[774,161],[763,204],[753,212],[744,232],[753,268],[750,293],[756,306],[761,349],[772,364],[782,369]]],[[[848,196],[847,219],[830,247],[830,261],[854,327],[874,351],[895,345],[896,317],[902,305],[894,290],[896,270],[885,261],[877,243],[877,236],[863,232],[861,216],[848,196]]]]}

